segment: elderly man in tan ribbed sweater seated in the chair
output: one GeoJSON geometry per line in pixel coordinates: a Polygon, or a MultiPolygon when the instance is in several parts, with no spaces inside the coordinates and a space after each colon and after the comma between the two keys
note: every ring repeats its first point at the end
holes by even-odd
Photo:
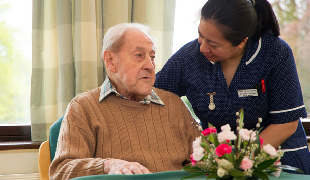
{"type": "Polygon", "coordinates": [[[149,28],[123,23],[103,41],[107,78],[69,104],[51,179],[181,170],[190,162],[197,123],[175,94],[154,88],[149,28]]]}

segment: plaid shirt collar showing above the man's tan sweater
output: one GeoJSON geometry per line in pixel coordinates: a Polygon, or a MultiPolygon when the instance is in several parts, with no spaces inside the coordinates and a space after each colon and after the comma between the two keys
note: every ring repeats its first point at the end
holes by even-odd
{"type": "MultiPolygon", "coordinates": [[[[128,100],[126,97],[124,97],[123,95],[121,95],[120,93],[116,91],[116,88],[112,85],[109,77],[106,76],[105,81],[101,85],[99,102],[101,102],[108,94],[112,92],[114,92],[117,97],[128,100]]],[[[159,105],[163,105],[163,106],[165,105],[153,89],[152,89],[152,92],[148,96],[146,96],[144,99],[140,100],[139,102],[142,104],[150,104],[151,102],[153,102],[159,105]]]]}

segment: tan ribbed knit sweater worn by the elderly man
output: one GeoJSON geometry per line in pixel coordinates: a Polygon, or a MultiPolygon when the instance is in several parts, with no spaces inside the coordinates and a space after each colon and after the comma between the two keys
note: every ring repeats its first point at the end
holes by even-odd
{"type": "Polygon", "coordinates": [[[200,132],[177,95],[154,90],[165,106],[114,93],[99,102],[100,88],[76,96],[61,125],[50,178],[104,174],[106,158],[139,162],[151,172],[181,170],[200,132]]]}

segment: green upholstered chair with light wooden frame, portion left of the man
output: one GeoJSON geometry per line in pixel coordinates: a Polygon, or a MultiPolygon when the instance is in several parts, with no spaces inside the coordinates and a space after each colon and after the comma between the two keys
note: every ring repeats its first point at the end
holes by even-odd
{"type": "Polygon", "coordinates": [[[55,157],[57,140],[59,135],[60,126],[64,116],[57,119],[49,128],[49,140],[44,141],[39,148],[38,155],[38,168],[41,180],[49,179],[48,170],[51,161],[55,157]]]}

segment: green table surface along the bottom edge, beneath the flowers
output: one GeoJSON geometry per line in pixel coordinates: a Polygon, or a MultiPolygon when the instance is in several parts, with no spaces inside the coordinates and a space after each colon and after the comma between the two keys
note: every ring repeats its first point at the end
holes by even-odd
{"type": "MultiPolygon", "coordinates": [[[[139,179],[150,179],[150,180],[159,180],[159,179],[167,179],[167,180],[180,180],[183,177],[188,176],[190,173],[186,171],[166,171],[166,172],[156,172],[152,174],[136,174],[136,175],[91,175],[84,177],[77,177],[74,180],[104,180],[104,179],[125,179],[125,180],[139,180],[139,179]]],[[[189,180],[196,179],[202,180],[206,179],[207,176],[201,175],[193,178],[189,178],[189,180]]],[[[298,180],[309,180],[310,175],[300,175],[300,174],[290,174],[286,172],[281,172],[281,176],[276,178],[274,176],[268,176],[270,180],[283,180],[283,179],[298,179],[298,180]]]]}

